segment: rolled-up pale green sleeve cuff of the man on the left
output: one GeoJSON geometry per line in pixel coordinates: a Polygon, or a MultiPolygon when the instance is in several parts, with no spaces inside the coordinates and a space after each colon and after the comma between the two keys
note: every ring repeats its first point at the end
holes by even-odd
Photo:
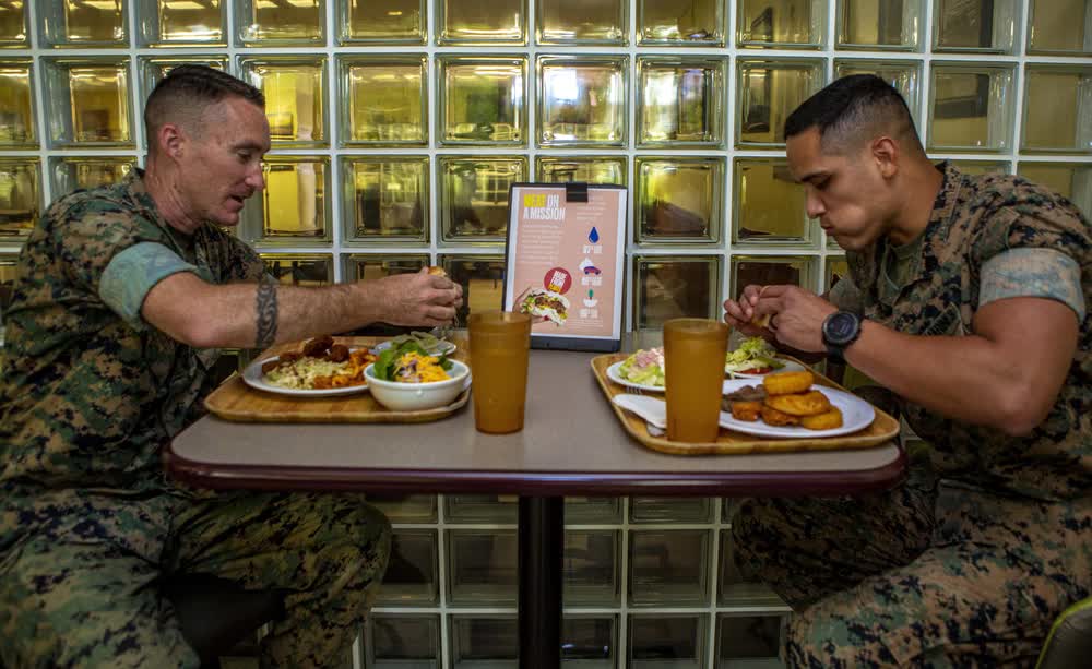
{"type": "Polygon", "coordinates": [[[98,296],[127,323],[143,330],[140,310],[147,291],[178,272],[197,273],[197,267],[161,243],[142,241],[114,256],[99,279],[98,296]]]}

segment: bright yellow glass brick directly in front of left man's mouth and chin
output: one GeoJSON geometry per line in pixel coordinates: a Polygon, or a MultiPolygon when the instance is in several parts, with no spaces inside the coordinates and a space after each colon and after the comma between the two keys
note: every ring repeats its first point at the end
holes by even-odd
{"type": "Polygon", "coordinates": [[[330,165],[325,156],[265,156],[265,188],[244,211],[252,240],[330,240],[330,165]]]}

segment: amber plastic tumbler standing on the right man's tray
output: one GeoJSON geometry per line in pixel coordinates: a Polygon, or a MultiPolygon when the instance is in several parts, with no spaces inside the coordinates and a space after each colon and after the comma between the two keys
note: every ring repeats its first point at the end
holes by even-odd
{"type": "Polygon", "coordinates": [[[710,319],[664,323],[667,439],[716,441],[729,330],[726,323],[710,319]]]}

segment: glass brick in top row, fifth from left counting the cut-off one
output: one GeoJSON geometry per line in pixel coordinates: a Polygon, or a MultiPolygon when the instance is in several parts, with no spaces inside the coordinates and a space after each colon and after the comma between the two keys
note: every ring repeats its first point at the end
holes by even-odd
{"type": "Polygon", "coordinates": [[[425,44],[426,0],[336,0],[342,44],[425,44]]]}

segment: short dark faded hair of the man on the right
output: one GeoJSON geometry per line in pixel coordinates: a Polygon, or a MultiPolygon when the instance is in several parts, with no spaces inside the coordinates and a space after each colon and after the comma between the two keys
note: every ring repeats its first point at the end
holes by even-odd
{"type": "Polygon", "coordinates": [[[881,134],[923,151],[906,100],[875,74],[843,76],[804,100],[785,119],[785,138],[819,129],[824,151],[839,153],[881,134]]]}

